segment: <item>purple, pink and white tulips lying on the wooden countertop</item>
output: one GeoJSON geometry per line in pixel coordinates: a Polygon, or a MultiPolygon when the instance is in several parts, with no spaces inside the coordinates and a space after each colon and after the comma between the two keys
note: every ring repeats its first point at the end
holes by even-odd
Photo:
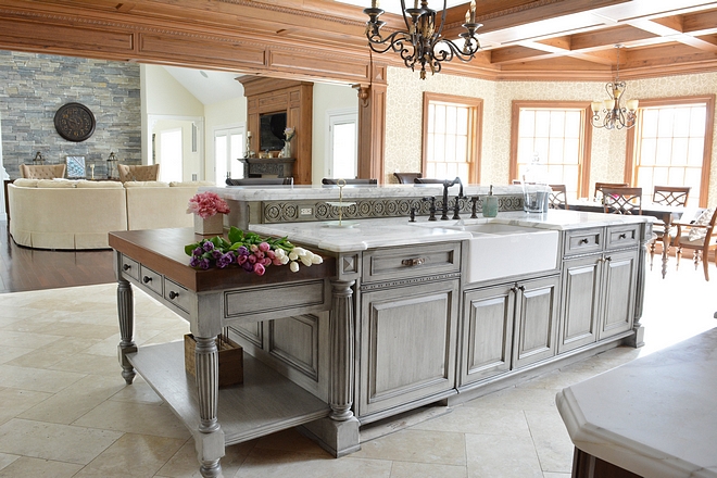
{"type": "Polygon", "coordinates": [[[288,265],[295,273],[299,264],[311,267],[324,262],[320,255],[292,244],[286,237],[263,238],[231,226],[228,238],[216,236],[185,246],[185,253],[190,256],[189,265],[199,269],[238,266],[263,276],[269,266],[288,265]]]}

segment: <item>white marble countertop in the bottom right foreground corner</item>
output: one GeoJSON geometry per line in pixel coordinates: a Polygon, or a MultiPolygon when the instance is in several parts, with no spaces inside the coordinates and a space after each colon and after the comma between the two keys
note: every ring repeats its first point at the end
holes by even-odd
{"type": "Polygon", "coordinates": [[[643,477],[717,477],[717,328],[557,394],[575,445],[643,477]]]}

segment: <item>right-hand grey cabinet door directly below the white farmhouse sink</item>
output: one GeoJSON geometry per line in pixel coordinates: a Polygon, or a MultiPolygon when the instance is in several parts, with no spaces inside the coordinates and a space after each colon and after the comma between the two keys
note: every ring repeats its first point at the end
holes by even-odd
{"type": "Polygon", "coordinates": [[[518,281],[513,337],[513,367],[550,358],[557,352],[558,276],[518,281]]]}

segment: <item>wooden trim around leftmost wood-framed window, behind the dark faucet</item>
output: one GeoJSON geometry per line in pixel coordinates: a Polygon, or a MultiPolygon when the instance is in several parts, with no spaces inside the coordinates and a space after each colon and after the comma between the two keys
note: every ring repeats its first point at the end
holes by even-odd
{"type": "Polygon", "coordinates": [[[428,161],[428,104],[431,101],[442,103],[455,103],[462,106],[468,106],[469,114],[468,131],[468,183],[478,185],[480,184],[480,152],[482,151],[482,131],[483,131],[483,100],[481,98],[461,97],[455,95],[442,95],[424,91],[424,112],[423,112],[423,142],[422,142],[422,158],[420,158],[420,173],[426,175],[426,163],[428,161]]]}

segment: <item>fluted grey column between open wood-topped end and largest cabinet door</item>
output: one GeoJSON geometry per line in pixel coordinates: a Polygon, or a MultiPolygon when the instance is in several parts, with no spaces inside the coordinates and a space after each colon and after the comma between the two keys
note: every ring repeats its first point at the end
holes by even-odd
{"type": "Polygon", "coordinates": [[[331,385],[329,405],[331,419],[343,422],[353,418],[353,290],[354,280],[331,282],[331,312],[329,335],[331,337],[331,385]]]}

